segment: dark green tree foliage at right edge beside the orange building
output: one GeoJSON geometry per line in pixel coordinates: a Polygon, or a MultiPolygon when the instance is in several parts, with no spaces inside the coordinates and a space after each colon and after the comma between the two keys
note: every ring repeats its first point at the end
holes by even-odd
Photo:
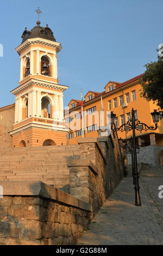
{"type": "Polygon", "coordinates": [[[142,86],[140,95],[147,101],[153,100],[163,109],[163,54],[161,51],[159,53],[157,62],[145,65],[146,71],[140,79],[142,86]]]}

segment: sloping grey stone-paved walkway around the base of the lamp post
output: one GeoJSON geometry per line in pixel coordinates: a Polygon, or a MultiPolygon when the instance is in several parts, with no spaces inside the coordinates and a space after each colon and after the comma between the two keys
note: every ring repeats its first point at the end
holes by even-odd
{"type": "Polygon", "coordinates": [[[78,245],[163,245],[163,199],[158,200],[159,185],[163,185],[162,178],[140,179],[139,207],[134,205],[133,179],[124,178],[78,245]]]}

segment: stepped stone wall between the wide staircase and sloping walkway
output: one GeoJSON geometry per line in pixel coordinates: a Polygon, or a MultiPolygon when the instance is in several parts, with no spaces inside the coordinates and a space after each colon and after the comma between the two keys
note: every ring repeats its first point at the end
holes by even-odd
{"type": "Polygon", "coordinates": [[[70,194],[92,205],[93,214],[123,178],[117,135],[80,138],[80,160],[70,160],[70,194]]]}

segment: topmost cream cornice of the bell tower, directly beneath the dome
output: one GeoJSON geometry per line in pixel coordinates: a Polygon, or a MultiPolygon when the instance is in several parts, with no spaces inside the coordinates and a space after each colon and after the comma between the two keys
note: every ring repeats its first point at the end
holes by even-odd
{"type": "Polygon", "coordinates": [[[51,40],[47,40],[43,38],[32,38],[24,41],[21,45],[16,47],[15,50],[19,55],[21,55],[21,52],[24,51],[28,46],[36,45],[36,44],[55,48],[56,52],[61,51],[61,48],[62,48],[60,42],[53,42],[51,40]]]}

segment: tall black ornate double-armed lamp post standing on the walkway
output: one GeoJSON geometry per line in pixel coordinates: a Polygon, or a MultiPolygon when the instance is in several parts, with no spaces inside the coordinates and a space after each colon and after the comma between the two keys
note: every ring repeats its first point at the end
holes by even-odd
{"type": "Polygon", "coordinates": [[[134,108],[131,110],[131,119],[127,121],[126,124],[122,124],[120,127],[115,126],[115,117],[116,114],[114,114],[111,111],[111,130],[112,131],[133,131],[133,139],[132,139],[132,148],[133,148],[133,163],[134,163],[134,168],[133,168],[133,178],[134,178],[134,188],[135,188],[135,205],[136,206],[141,206],[141,200],[140,200],[140,193],[139,193],[139,173],[137,171],[137,156],[136,156],[136,137],[135,137],[135,130],[142,132],[142,130],[152,130],[155,131],[158,128],[158,121],[159,121],[159,115],[160,113],[154,109],[154,112],[151,113],[153,122],[155,124],[152,126],[148,126],[145,123],[141,123],[139,120],[135,118],[135,111],[134,108]]]}

